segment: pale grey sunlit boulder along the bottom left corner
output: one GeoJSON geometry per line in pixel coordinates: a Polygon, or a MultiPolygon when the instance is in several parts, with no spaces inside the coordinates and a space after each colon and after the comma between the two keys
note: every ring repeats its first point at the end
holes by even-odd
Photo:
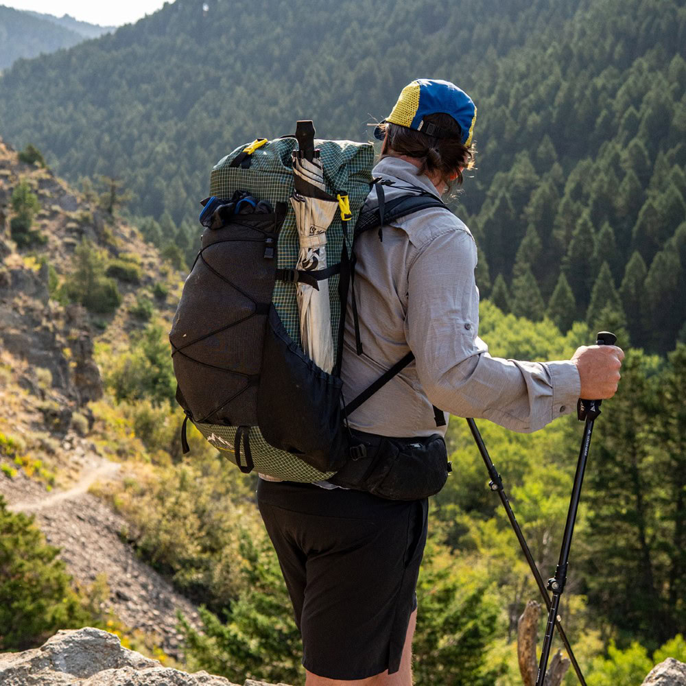
{"type": "MultiPolygon", "coordinates": [[[[106,631],[59,631],[40,648],[0,654],[3,686],[237,686],[207,672],[187,674],[127,650],[106,631]]],[[[270,686],[248,680],[245,686],[270,686]]],[[[280,684],[278,686],[285,686],[280,684]]]]}

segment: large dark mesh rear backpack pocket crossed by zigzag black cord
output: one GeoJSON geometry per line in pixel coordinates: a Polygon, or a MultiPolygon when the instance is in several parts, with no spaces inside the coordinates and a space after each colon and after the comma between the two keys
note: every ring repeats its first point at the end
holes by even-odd
{"type": "Polygon", "coordinates": [[[257,425],[257,384],[285,217],[237,215],[207,229],[169,333],[174,373],[194,421],[257,425]],[[268,249],[269,248],[269,249],[268,249]]]}

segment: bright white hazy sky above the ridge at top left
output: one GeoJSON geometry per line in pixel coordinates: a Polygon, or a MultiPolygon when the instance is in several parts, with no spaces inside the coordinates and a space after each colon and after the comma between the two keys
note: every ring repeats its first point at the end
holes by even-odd
{"type": "Polygon", "coordinates": [[[71,14],[101,26],[120,26],[159,10],[165,0],[0,0],[0,5],[44,14],[71,14]]]}

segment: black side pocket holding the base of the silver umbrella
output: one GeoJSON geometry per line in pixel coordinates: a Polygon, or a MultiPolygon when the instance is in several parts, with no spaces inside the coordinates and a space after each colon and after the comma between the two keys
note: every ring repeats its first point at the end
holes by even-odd
{"type": "Polygon", "coordinates": [[[316,366],[289,337],[272,307],[257,390],[257,423],[265,440],[320,471],[339,469],[348,448],[341,388],[338,377],[316,366]]]}

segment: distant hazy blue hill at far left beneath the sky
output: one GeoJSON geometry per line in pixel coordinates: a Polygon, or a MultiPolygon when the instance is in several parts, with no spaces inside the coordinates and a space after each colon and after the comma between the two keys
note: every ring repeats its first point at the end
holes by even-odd
{"type": "Polygon", "coordinates": [[[73,27],[56,25],[45,16],[0,5],[0,71],[20,57],[36,57],[82,40],[84,36],[73,27]]]}

